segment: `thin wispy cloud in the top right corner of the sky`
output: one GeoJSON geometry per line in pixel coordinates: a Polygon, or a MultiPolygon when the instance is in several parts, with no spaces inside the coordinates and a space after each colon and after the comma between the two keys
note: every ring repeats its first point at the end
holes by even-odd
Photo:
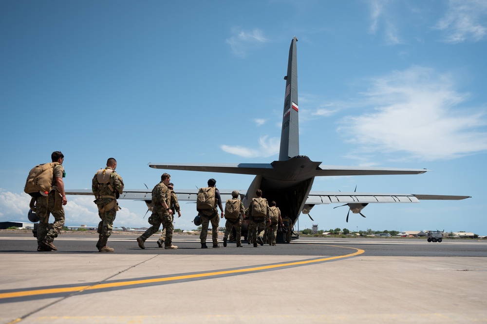
{"type": "Polygon", "coordinates": [[[434,28],[445,32],[447,43],[479,41],[486,38],[486,17],[485,0],[450,0],[445,16],[434,28]]]}

